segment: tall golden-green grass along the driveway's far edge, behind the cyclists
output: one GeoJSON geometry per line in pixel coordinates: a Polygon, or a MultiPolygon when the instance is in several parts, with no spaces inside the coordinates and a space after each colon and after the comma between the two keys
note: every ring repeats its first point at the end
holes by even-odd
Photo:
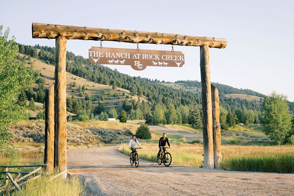
{"type": "MultiPolygon", "coordinates": [[[[158,145],[142,143],[140,158],[156,162],[158,145]]],[[[169,149],[173,163],[188,167],[202,167],[203,145],[173,144],[169,149]]],[[[124,144],[120,152],[130,154],[128,145],[124,144]]],[[[240,146],[222,145],[223,161],[221,167],[225,170],[257,171],[257,172],[294,172],[294,146],[240,146]]]]}

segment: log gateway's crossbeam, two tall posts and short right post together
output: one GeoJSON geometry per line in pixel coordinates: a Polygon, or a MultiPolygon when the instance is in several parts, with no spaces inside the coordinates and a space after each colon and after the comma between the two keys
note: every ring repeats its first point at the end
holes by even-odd
{"type": "MultiPolygon", "coordinates": [[[[54,166],[57,167],[59,171],[66,170],[66,39],[200,46],[203,110],[203,167],[218,168],[221,160],[219,114],[217,112],[215,113],[213,108],[219,110],[219,101],[218,95],[215,94],[218,92],[217,89],[213,88],[212,92],[209,48],[225,48],[227,46],[226,39],[42,23],[32,24],[32,37],[56,39],[54,166]]],[[[66,174],[63,175],[63,177],[65,178],[66,174]]]]}

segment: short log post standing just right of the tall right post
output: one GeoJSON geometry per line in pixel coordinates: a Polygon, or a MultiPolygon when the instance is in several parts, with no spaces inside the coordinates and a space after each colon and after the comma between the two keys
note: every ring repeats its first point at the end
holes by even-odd
{"type": "Polygon", "coordinates": [[[212,120],[213,120],[213,152],[214,152],[214,168],[219,169],[222,160],[220,151],[220,103],[218,97],[218,89],[211,85],[212,93],[212,120]]]}

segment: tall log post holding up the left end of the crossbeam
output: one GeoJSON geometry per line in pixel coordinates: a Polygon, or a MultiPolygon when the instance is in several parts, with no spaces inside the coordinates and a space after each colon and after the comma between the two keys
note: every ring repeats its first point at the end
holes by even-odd
{"type": "MultiPolygon", "coordinates": [[[[55,41],[55,83],[54,83],[54,167],[59,172],[66,169],[66,38],[58,36],[55,41]]],[[[66,173],[62,175],[66,178],[66,173]]]]}

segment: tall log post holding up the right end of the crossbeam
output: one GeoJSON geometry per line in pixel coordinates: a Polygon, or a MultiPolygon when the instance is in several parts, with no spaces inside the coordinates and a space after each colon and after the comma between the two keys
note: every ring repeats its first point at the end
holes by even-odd
{"type": "Polygon", "coordinates": [[[200,72],[203,111],[203,167],[213,169],[213,120],[208,45],[200,47],[200,72]]]}

